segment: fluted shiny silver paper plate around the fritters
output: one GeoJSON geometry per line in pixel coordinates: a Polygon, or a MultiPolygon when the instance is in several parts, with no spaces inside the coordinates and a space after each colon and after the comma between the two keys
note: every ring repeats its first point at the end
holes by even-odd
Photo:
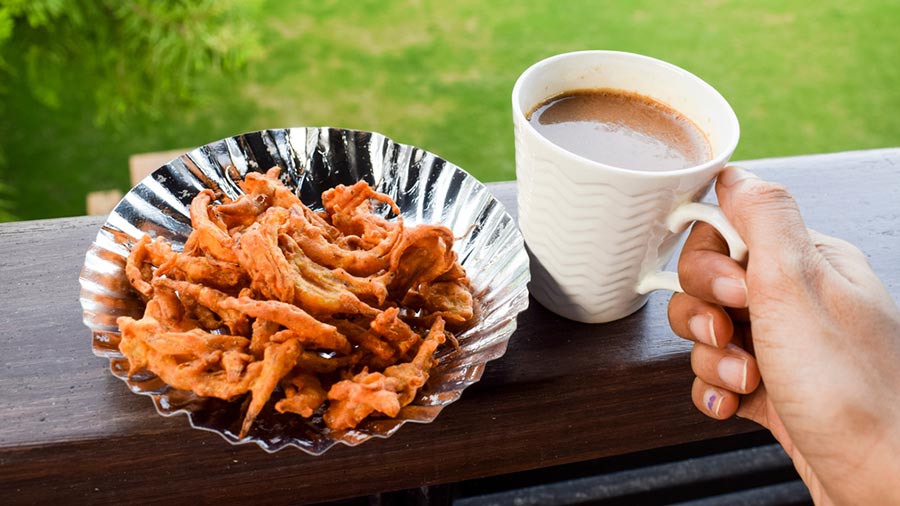
{"type": "Polygon", "coordinates": [[[528,258],[522,236],[485,186],[459,167],[427,151],[381,134],[335,128],[262,130],[195,149],[147,176],[116,206],[85,257],[81,282],[84,323],[93,332],[94,354],[110,360],[112,373],[135,393],[153,399],[165,416],[184,413],[191,426],[231,443],[257,443],[266,451],[285,446],[319,455],[337,443],[354,446],[388,437],[406,422],[428,423],[477,382],[485,364],[502,356],[528,305],[528,258]],[[128,378],[118,350],[119,316],[140,317],[143,302],[125,277],[129,248],[144,234],[184,244],[191,232],[188,206],[203,190],[235,198],[248,172],[279,166],[282,181],[313,209],[338,184],[365,180],[388,194],[406,223],[441,223],[460,238],[454,249],[472,282],[477,324],[458,335],[460,349],[443,352],[426,386],[393,419],[367,419],[356,429],[332,431],[321,416],[282,415],[270,402],[244,439],[237,433],[241,402],[199,397],[169,388],[152,374],[128,378]]]}

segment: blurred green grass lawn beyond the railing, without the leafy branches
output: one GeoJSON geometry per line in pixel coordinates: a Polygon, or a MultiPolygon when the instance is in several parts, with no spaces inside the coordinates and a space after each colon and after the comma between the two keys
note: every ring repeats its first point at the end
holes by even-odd
{"type": "Polygon", "coordinates": [[[244,74],[200,83],[194,107],[157,119],[98,127],[78,83],[59,109],[7,83],[0,181],[20,219],[79,215],[87,192],[128,189],[130,154],[306,125],[376,130],[513,179],[516,77],[579,49],[643,53],[708,81],[740,118],[736,159],[900,146],[898,22],[896,0],[272,0],[244,74]]]}

